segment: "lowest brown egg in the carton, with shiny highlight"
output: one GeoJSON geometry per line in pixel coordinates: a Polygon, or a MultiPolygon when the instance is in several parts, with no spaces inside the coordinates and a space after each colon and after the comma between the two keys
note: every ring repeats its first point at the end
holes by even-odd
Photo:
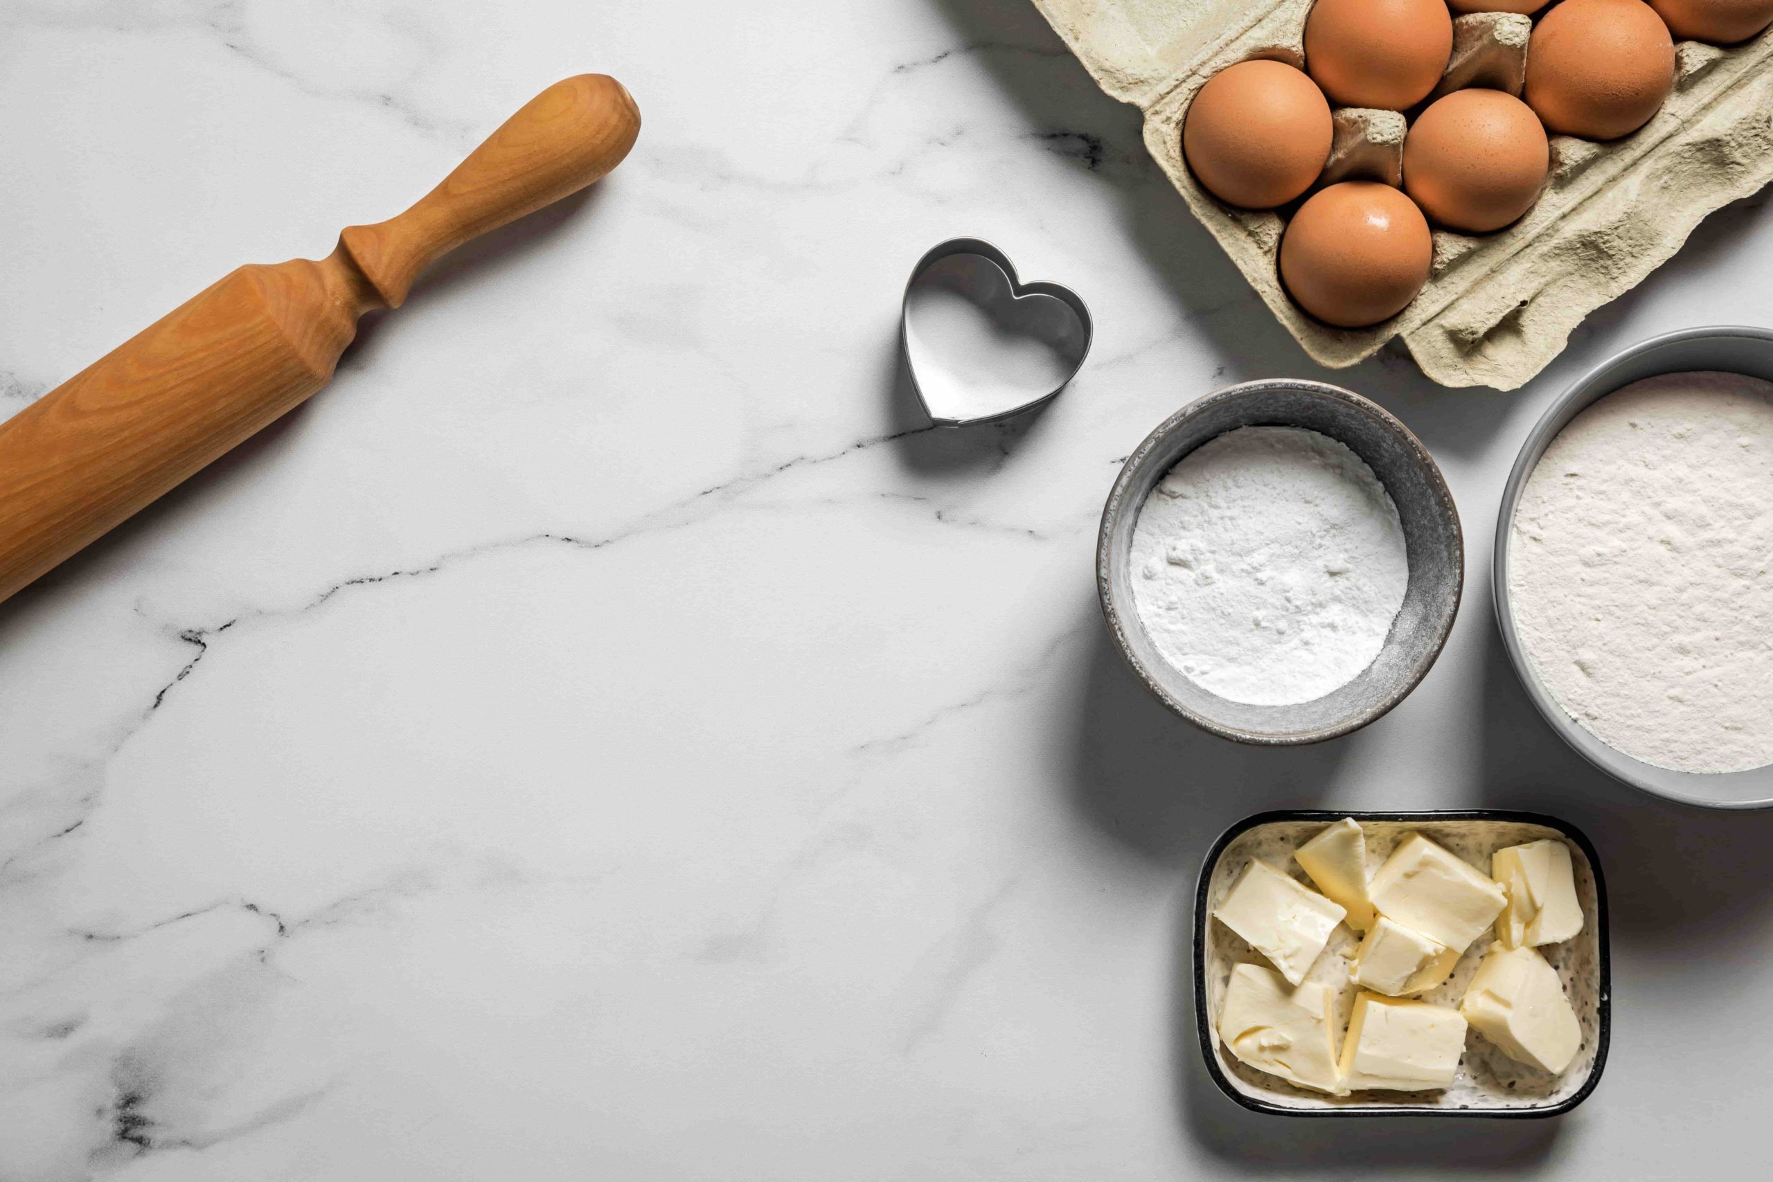
{"type": "Polygon", "coordinates": [[[1280,239],[1280,278],[1301,308],[1337,328],[1404,310],[1429,280],[1434,239],[1417,204],[1378,181],[1312,193],[1280,239]]]}

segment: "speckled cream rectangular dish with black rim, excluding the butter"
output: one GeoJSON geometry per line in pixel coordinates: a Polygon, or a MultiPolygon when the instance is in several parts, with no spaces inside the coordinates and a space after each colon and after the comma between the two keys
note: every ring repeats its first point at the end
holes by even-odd
{"type": "MultiPolygon", "coordinates": [[[[1422,994],[1425,1001],[1450,1005],[1464,992],[1477,959],[1491,937],[1484,934],[1459,959],[1459,968],[1445,985],[1422,994]]],[[[1353,939],[1346,927],[1337,927],[1330,946],[1319,957],[1312,980],[1333,966],[1342,946],[1353,939]]],[[[1612,1037],[1612,973],[1606,939],[1606,884],[1594,845],[1574,826],[1539,813],[1500,808],[1436,810],[1436,812],[1323,812],[1285,810],[1245,817],[1227,829],[1200,867],[1195,890],[1195,1024],[1200,1035],[1200,1054],[1213,1083],[1238,1104],[1275,1116],[1486,1116],[1486,1118],[1543,1118],[1567,1113],[1582,1104],[1601,1081],[1606,1067],[1606,1047],[1612,1037]],[[1518,842],[1558,836],[1569,842],[1576,870],[1576,897],[1583,909],[1583,929],[1562,945],[1541,948],[1564,980],[1564,991],[1576,1008],[1583,1042],[1576,1061],[1557,1079],[1519,1067],[1495,1051],[1480,1035],[1466,1035],[1459,1079],[1447,1092],[1395,1093],[1397,1099],[1328,1097],[1294,1088],[1277,1076],[1259,1072],[1229,1056],[1218,1040],[1216,1017],[1230,966],[1238,962],[1266,964],[1261,953],[1245,945],[1223,923],[1213,920],[1236,875],[1261,856],[1275,868],[1300,877],[1291,858],[1303,840],[1323,826],[1353,817],[1367,831],[1369,872],[1390,852],[1404,833],[1447,845],[1480,870],[1488,872],[1488,856],[1479,859],[1472,851],[1500,849],[1518,842]],[[1282,859],[1277,851],[1287,851],[1282,859]]],[[[1337,1001],[1337,1021],[1346,1030],[1347,1008],[1355,989],[1347,985],[1337,1001]]],[[[1392,1093],[1381,1093],[1392,1095],[1392,1093]]]]}

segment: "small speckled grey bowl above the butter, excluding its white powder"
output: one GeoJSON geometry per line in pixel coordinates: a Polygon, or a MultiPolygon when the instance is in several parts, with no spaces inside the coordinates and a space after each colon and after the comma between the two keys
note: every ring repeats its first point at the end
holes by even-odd
{"type": "Polygon", "coordinates": [[[1321,743],[1383,716],[1434,665],[1459,613],[1463,587],[1459,510],[1427,448],[1379,406],[1321,381],[1246,381],[1167,418],[1121,468],[1096,542],[1096,590],[1128,665],[1172,711],[1238,743],[1321,743]],[[1379,477],[1404,525],[1410,587],[1385,647],[1360,677],[1314,702],[1248,705],[1202,689],[1163,659],[1133,608],[1133,525],[1145,496],[1175,461],[1238,427],[1307,427],[1340,439],[1379,477]]]}

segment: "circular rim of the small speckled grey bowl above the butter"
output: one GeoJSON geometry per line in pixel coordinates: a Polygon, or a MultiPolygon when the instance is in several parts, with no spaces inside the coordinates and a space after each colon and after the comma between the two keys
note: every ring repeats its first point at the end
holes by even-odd
{"type": "MultiPolygon", "coordinates": [[[[1202,441],[1206,443],[1206,441],[1202,441]]],[[[1340,439],[1339,439],[1340,443],[1340,439]]],[[[1181,461],[1181,457],[1177,457],[1181,461]]],[[[1452,626],[1459,618],[1459,606],[1464,603],[1464,523],[1459,517],[1459,507],[1452,498],[1452,489],[1447,486],[1447,477],[1434,461],[1427,445],[1417,438],[1410,427],[1404,425],[1401,418],[1392,415],[1388,409],[1374,402],[1372,399],[1346,390],[1342,386],[1332,385],[1328,381],[1316,381],[1310,377],[1261,377],[1255,381],[1241,381],[1230,386],[1223,386],[1211,393],[1206,393],[1193,402],[1188,402],[1181,409],[1168,415],[1163,422],[1151,429],[1138,447],[1135,447],[1128,457],[1121,463],[1121,471],[1115,475],[1113,484],[1108,487],[1108,500],[1103,503],[1101,523],[1096,530],[1096,601],[1101,606],[1103,618],[1108,624],[1108,634],[1113,638],[1115,649],[1121,652],[1121,659],[1128,663],[1128,668],[1138,677],[1140,684],[1158,698],[1170,712],[1193,723],[1207,734],[1218,735],[1222,739],[1232,739],[1234,743],[1246,743],[1250,746],[1307,746],[1312,743],[1326,743],[1330,739],[1340,739],[1346,734],[1353,734],[1362,727],[1376,723],[1397,707],[1399,702],[1408,698],[1422,679],[1427,677],[1429,670],[1440,659],[1441,650],[1447,647],[1447,638],[1452,634],[1452,626]],[[1434,627],[1434,638],[1427,652],[1417,661],[1417,666],[1408,677],[1401,679],[1379,702],[1374,702],[1365,711],[1356,711],[1346,719],[1332,725],[1319,727],[1317,730],[1300,730],[1289,734],[1259,734],[1252,730],[1239,730],[1238,727],[1229,727],[1220,723],[1199,711],[1177,702],[1170,696],[1163,686],[1151,675],[1151,670],[1138,659],[1133,647],[1126,642],[1126,629],[1138,627],[1138,617],[1135,611],[1122,613],[1113,601],[1112,588],[1112,571],[1110,571],[1110,539],[1113,535],[1113,526],[1124,512],[1138,512],[1138,505],[1131,505],[1128,496],[1133,473],[1144,466],[1145,457],[1174,431],[1177,431],[1186,420],[1200,415],[1211,406],[1222,402],[1232,402],[1246,397],[1255,397],[1261,393],[1273,392],[1303,392],[1312,397],[1330,399],[1353,408],[1356,413],[1365,413],[1374,418],[1381,427],[1385,427],[1392,436],[1395,436],[1404,448],[1415,457],[1417,464],[1427,473],[1429,484],[1438,494],[1440,507],[1452,525],[1454,539],[1454,556],[1456,556],[1456,574],[1454,590],[1450,603],[1445,608],[1441,620],[1434,627]],[[1124,618],[1131,617],[1131,618],[1124,618]]]]}

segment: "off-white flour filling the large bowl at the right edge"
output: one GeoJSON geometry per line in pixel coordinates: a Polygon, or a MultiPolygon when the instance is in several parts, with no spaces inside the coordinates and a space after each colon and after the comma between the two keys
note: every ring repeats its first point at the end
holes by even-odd
{"type": "Polygon", "coordinates": [[[1576,415],[1509,535],[1539,680],[1675,771],[1773,764],[1773,385],[1667,374],[1576,415]]]}

